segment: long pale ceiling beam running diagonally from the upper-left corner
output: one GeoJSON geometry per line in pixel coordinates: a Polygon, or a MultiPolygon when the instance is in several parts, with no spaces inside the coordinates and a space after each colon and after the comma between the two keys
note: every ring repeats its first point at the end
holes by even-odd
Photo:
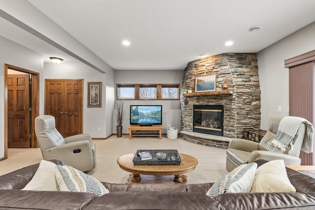
{"type": "MultiPolygon", "coordinates": [[[[47,42],[67,54],[70,54],[76,59],[81,60],[83,63],[96,68],[98,71],[105,72],[105,70],[111,68],[106,62],[96,56],[78,40],[73,38],[73,36],[63,30],[61,26],[49,19],[29,1],[2,0],[1,10],[21,21],[21,23],[16,21],[11,22],[10,18],[7,19],[14,25],[27,30],[39,39],[42,39],[44,42],[47,42]],[[30,27],[25,27],[24,24],[27,24],[30,27]]],[[[2,15],[3,18],[6,18],[4,14],[2,15]]],[[[5,28],[1,29],[5,30],[5,28]]],[[[25,46],[30,45],[29,43],[25,43],[25,46]]]]}

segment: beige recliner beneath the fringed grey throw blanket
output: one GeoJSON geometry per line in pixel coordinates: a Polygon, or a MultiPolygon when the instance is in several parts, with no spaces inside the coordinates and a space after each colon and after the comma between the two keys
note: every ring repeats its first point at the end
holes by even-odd
{"type": "Polygon", "coordinates": [[[293,145],[288,146],[285,151],[275,147],[271,141],[277,134],[280,121],[283,117],[271,117],[269,119],[268,131],[261,139],[260,143],[246,139],[232,138],[226,150],[226,170],[232,171],[237,166],[244,163],[251,163],[258,159],[275,160],[284,159],[285,165],[300,165],[299,158],[306,125],[301,124],[297,133],[297,138],[293,145]]]}

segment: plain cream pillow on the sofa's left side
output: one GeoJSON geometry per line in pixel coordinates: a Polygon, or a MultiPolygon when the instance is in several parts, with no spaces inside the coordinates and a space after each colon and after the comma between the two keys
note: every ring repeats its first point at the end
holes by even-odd
{"type": "Polygon", "coordinates": [[[50,161],[42,160],[35,172],[32,180],[22,190],[41,190],[57,191],[59,190],[55,177],[56,164],[50,161]]]}

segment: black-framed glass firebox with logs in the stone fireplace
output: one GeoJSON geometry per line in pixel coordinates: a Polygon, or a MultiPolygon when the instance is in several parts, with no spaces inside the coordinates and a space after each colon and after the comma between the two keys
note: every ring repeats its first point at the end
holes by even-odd
{"type": "Polygon", "coordinates": [[[193,105],[192,131],[223,136],[223,105],[193,105]]]}

